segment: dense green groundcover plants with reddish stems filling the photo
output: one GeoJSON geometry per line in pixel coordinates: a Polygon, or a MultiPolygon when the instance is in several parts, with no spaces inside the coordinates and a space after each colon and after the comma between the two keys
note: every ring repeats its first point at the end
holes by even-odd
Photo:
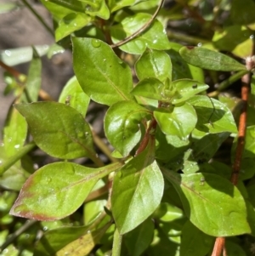
{"type": "Polygon", "coordinates": [[[254,255],[255,3],[41,2],[48,58],[70,48],[75,76],[55,102],[40,94],[39,47],[27,76],[5,62],[15,100],[0,147],[1,255],[254,255]],[[204,39],[167,30],[183,9],[204,39]],[[240,79],[242,100],[221,94],[240,79]],[[107,140],[86,121],[90,101],[107,110],[107,140]],[[39,150],[54,161],[35,169],[39,150]]]}

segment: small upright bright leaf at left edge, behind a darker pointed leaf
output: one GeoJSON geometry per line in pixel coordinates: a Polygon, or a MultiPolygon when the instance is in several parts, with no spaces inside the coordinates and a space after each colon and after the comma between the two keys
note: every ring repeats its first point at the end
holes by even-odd
{"type": "Polygon", "coordinates": [[[3,145],[6,156],[13,156],[24,145],[27,124],[24,117],[11,106],[3,128],[3,145]]]}

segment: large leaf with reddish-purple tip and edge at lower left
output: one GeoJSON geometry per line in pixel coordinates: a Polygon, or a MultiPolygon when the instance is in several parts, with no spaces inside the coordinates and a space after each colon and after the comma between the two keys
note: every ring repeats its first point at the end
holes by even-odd
{"type": "Polygon", "coordinates": [[[82,205],[99,179],[121,166],[114,163],[96,169],[73,162],[48,164],[26,180],[10,214],[37,220],[63,219],[82,205]]]}

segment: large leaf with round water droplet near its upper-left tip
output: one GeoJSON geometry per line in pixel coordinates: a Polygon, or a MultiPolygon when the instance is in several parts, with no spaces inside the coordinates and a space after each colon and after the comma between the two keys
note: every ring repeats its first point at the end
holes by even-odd
{"type": "Polygon", "coordinates": [[[101,104],[133,100],[131,70],[98,39],[73,37],[73,62],[77,80],[85,94],[101,104]]]}

